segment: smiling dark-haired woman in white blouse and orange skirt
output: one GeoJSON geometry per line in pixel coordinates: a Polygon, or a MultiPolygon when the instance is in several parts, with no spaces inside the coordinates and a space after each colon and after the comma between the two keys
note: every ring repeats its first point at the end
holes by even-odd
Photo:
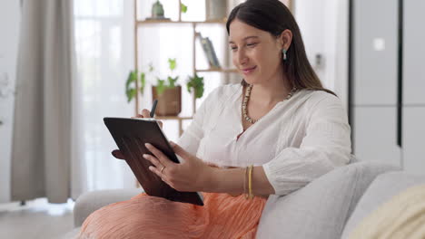
{"type": "Polygon", "coordinates": [[[94,212],[82,238],[254,238],[267,196],[350,161],[346,112],[311,69],[290,11],[278,0],[248,0],[226,26],[242,84],[204,100],[173,144],[182,164],[147,146],[153,173],[179,191],[203,192],[204,206],[141,194],[94,212]]]}

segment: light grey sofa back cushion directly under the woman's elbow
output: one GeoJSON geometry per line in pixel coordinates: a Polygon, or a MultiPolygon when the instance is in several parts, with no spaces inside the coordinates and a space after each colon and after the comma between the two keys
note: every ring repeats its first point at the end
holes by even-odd
{"type": "Polygon", "coordinates": [[[357,162],[332,170],[288,196],[270,196],[257,238],[340,238],[373,179],[397,169],[378,162],[357,162]]]}

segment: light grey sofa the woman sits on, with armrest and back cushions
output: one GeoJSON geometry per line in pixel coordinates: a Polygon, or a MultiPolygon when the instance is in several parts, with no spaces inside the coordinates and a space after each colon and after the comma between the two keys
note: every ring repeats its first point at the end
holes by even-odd
{"type": "MultiPolygon", "coordinates": [[[[381,162],[353,162],[288,196],[270,196],[262,212],[257,238],[349,238],[351,230],[374,209],[408,187],[420,184],[425,184],[425,176],[412,175],[381,162]]],[[[80,196],[74,206],[75,228],[64,238],[74,238],[79,226],[94,210],[139,193],[140,189],[120,189],[80,196]]]]}

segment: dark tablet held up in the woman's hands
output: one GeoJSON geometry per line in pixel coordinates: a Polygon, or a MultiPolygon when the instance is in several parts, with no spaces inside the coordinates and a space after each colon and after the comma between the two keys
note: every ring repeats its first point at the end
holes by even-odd
{"type": "Polygon", "coordinates": [[[145,143],[150,143],[161,150],[174,163],[180,163],[155,119],[104,118],[104,124],[147,195],[203,206],[201,194],[179,192],[149,170],[153,164],[143,158],[143,154],[153,154],[144,147],[145,143]]]}

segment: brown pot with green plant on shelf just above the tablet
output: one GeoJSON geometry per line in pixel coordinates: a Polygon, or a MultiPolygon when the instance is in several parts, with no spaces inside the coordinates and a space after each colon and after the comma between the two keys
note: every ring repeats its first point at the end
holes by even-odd
{"type": "Polygon", "coordinates": [[[182,111],[182,87],[177,84],[178,76],[173,77],[176,60],[168,59],[171,75],[166,80],[157,78],[157,84],[152,87],[153,100],[158,100],[156,115],[177,116],[182,111]]]}

